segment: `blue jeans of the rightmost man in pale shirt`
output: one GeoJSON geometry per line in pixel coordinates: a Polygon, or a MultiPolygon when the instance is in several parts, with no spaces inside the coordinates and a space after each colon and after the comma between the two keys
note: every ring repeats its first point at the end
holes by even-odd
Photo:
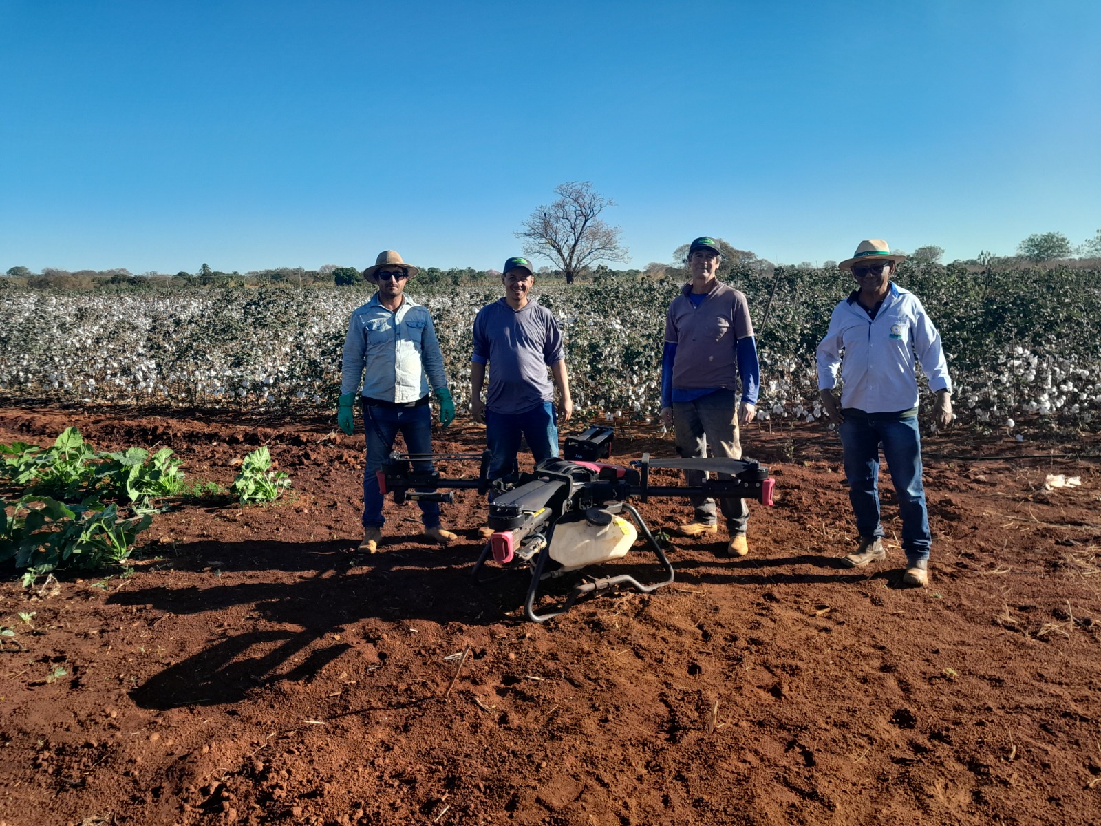
{"type": "Polygon", "coordinates": [[[917,417],[902,420],[868,419],[852,410],[842,411],[841,445],[844,447],[844,475],[849,480],[849,501],[857,517],[861,539],[883,536],[880,523],[880,446],[891,469],[891,481],[898,497],[902,517],[902,550],[911,562],[929,558],[933,536],[922,487],[922,436],[917,417]]]}

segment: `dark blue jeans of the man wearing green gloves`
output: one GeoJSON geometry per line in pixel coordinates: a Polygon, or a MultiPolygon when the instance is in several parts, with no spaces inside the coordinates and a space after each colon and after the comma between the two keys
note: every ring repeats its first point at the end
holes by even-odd
{"type": "MultiPolygon", "coordinates": [[[[401,433],[407,453],[432,453],[432,407],[380,407],[362,404],[363,426],[367,431],[367,464],[363,466],[363,528],[382,528],[382,493],[374,475],[394,449],[394,439],[401,433]]],[[[432,470],[430,461],[416,461],[417,470],[432,470]]],[[[417,502],[425,528],[439,526],[439,503],[417,502]]]]}

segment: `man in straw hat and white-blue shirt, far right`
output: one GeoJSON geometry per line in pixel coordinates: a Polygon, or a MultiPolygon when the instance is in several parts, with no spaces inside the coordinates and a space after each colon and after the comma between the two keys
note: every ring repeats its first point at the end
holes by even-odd
{"type": "Polygon", "coordinates": [[[933,537],[922,485],[916,365],[936,394],[937,427],[952,420],[952,384],[940,335],[922,302],[891,282],[905,259],[876,238],[861,241],[855,254],[838,264],[852,273],[857,289],[833,308],[818,345],[818,389],[826,415],[841,434],[849,501],[860,532],[860,546],[841,564],[862,568],[886,558],[879,496],[882,447],[902,518],[903,582],[924,586],[933,537]],[[839,368],[844,382],[840,401],[833,392],[839,368]]]}

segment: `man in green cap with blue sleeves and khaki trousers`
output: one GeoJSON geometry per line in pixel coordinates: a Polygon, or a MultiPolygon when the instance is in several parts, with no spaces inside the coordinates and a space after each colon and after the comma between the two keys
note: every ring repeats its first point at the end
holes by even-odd
{"type": "MultiPolygon", "coordinates": [[[[662,421],[673,425],[677,455],[740,459],[739,426],[756,414],[761,384],[750,308],[741,291],[718,280],[722,251],[713,238],[697,238],[688,247],[691,280],[669,304],[662,358],[662,421]],[[741,380],[739,403],[738,384],[741,380]]],[[[689,487],[702,470],[685,470],[689,487]]],[[[720,475],[720,478],[723,478],[720,475]]],[[[674,529],[682,536],[718,533],[715,500],[691,500],[693,521],[674,529]]],[[[745,556],[749,507],[744,499],[720,501],[730,541],[727,554],[745,556]]]]}

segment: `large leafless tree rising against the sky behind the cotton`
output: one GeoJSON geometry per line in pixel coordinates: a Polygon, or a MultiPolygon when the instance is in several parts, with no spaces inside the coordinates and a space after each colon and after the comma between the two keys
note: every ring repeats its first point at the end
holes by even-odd
{"type": "Polygon", "coordinates": [[[615,206],[592,189],[588,181],[559,184],[558,200],[541,206],[524,221],[515,236],[523,240],[524,254],[549,259],[566,273],[566,283],[597,261],[626,261],[628,251],[620,246],[619,227],[609,227],[600,219],[606,207],[615,206]]]}

